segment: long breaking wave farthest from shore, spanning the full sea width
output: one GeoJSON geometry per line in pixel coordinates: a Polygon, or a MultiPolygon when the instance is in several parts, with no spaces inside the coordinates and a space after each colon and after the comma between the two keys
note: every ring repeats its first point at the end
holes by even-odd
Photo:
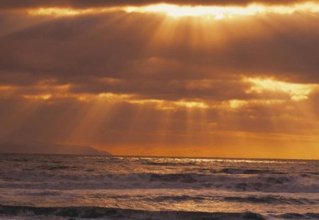
{"type": "Polygon", "coordinates": [[[225,173],[81,173],[21,170],[0,173],[0,188],[112,189],[205,188],[247,192],[319,192],[315,178],[300,175],[225,173]]]}

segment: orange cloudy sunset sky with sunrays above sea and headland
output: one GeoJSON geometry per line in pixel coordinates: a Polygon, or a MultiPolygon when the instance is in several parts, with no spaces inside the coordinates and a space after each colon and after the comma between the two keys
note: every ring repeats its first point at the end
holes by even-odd
{"type": "Polygon", "coordinates": [[[1,0],[0,142],[319,159],[319,1],[1,0]]]}

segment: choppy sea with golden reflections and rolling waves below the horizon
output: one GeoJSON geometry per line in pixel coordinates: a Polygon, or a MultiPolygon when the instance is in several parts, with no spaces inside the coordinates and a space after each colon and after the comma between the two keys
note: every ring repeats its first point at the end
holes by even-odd
{"type": "Polygon", "coordinates": [[[319,161],[0,154],[2,219],[319,219],[319,161]]]}

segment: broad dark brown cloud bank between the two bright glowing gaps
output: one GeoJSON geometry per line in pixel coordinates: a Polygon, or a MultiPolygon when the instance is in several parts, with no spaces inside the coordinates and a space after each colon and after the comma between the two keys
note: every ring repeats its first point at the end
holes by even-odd
{"type": "MultiPolygon", "coordinates": [[[[30,16],[26,23],[28,19],[30,16]]],[[[43,21],[3,35],[1,84],[32,85],[56,79],[61,85],[74,84],[74,92],[158,97],[172,93],[194,98],[222,95],[218,87],[228,84],[238,94],[233,98],[245,98],[247,95],[240,95],[247,88],[241,76],[319,83],[319,31],[313,16],[261,16],[198,23],[197,27],[189,19],[163,19],[107,13],[43,21]],[[165,30],[169,25],[173,30],[165,30]],[[189,34],[196,30],[200,38],[189,34]],[[210,37],[211,33],[216,36],[210,37]],[[121,83],[103,83],[104,78],[121,83]],[[186,88],[187,80],[214,84],[198,90],[186,88]]]]}

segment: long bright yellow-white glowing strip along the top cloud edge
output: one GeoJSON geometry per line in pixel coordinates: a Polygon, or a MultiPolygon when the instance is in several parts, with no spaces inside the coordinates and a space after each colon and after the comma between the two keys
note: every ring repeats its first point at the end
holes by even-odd
{"type": "Polygon", "coordinates": [[[205,16],[220,20],[233,16],[255,16],[269,13],[291,14],[296,12],[318,13],[319,4],[308,1],[303,4],[287,6],[265,6],[250,4],[248,6],[179,6],[174,4],[151,4],[147,6],[117,6],[107,8],[35,8],[28,13],[31,16],[78,16],[88,13],[107,13],[125,11],[126,13],[163,13],[174,18],[205,16]]]}

